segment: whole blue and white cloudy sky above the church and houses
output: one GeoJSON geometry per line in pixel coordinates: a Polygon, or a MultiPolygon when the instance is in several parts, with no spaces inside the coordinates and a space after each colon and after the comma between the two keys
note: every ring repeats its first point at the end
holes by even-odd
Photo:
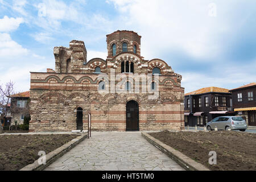
{"type": "Polygon", "coordinates": [[[185,92],[256,82],[255,0],[0,0],[0,83],[30,88],[30,71],[55,68],[53,47],[83,40],[106,59],[106,34],[133,30],[146,60],[166,61],[185,92]]]}

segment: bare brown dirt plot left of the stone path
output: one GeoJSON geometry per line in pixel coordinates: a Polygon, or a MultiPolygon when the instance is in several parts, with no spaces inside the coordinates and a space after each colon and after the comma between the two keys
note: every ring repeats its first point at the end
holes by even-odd
{"type": "Polygon", "coordinates": [[[78,135],[2,135],[0,136],[0,170],[17,171],[46,154],[63,146],[78,135]]]}

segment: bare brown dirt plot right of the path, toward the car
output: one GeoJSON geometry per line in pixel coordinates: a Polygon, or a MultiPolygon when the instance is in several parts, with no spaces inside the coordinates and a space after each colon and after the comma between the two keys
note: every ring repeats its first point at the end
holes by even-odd
{"type": "Polygon", "coordinates": [[[150,135],[210,170],[256,170],[256,134],[237,131],[162,131],[150,135]],[[209,151],[216,151],[216,165],[209,164],[209,151]]]}

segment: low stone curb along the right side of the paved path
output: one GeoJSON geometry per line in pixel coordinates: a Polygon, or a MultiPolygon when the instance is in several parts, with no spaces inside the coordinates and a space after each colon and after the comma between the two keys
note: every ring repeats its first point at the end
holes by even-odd
{"type": "Polygon", "coordinates": [[[167,146],[163,142],[160,142],[158,139],[148,135],[147,133],[141,133],[142,137],[144,137],[148,142],[153,144],[160,151],[164,152],[164,154],[168,155],[171,159],[175,160],[181,167],[183,167],[187,171],[210,171],[203,164],[195,162],[188,156],[182,154],[181,152],[175,150],[174,148],[167,146]]]}

